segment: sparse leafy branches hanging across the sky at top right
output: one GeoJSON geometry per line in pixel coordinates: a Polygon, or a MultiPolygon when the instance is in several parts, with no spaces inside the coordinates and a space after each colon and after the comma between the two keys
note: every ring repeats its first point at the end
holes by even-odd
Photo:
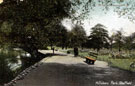
{"type": "Polygon", "coordinates": [[[132,0],[72,0],[70,13],[73,13],[73,15],[71,15],[71,18],[73,20],[87,19],[91,15],[91,11],[98,6],[104,13],[111,9],[119,17],[124,16],[130,21],[135,20],[135,1],[132,0]]]}

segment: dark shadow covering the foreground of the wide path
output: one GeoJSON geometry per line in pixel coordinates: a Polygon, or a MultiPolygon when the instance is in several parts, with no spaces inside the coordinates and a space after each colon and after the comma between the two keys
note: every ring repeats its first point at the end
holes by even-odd
{"type": "Polygon", "coordinates": [[[134,86],[134,76],[135,73],[115,68],[43,63],[15,86],[134,86]],[[104,85],[103,82],[109,84],[104,85]],[[125,85],[117,84],[120,82],[125,85]],[[128,85],[129,82],[131,84],[128,85]]]}

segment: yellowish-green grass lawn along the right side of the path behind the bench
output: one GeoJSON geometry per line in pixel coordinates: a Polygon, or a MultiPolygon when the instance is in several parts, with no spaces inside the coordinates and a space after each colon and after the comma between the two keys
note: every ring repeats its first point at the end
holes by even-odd
{"type": "MultiPolygon", "coordinates": [[[[73,54],[73,50],[69,50],[73,54]]],[[[66,51],[64,51],[66,53],[66,51]]],[[[89,56],[89,52],[79,52],[79,56],[85,57],[89,56]]],[[[92,57],[94,58],[94,57],[92,57]]],[[[117,67],[124,70],[129,70],[135,72],[135,68],[131,68],[130,65],[133,61],[135,61],[134,58],[126,58],[126,59],[113,59],[110,58],[109,55],[98,55],[97,60],[108,62],[110,66],[117,67]]]]}

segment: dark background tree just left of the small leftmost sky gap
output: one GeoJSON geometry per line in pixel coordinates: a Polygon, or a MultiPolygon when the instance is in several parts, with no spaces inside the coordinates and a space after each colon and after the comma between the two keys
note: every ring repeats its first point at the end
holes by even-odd
{"type": "Polygon", "coordinates": [[[54,26],[54,28],[49,28],[47,32],[51,48],[53,46],[60,46],[63,49],[67,45],[68,31],[61,24],[54,26]]]}

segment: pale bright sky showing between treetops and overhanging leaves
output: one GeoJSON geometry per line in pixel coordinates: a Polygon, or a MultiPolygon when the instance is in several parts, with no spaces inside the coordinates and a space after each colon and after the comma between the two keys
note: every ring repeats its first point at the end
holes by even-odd
{"type": "MultiPolygon", "coordinates": [[[[72,29],[73,25],[70,19],[64,19],[62,23],[68,30],[72,29]]],[[[100,6],[97,6],[94,11],[91,11],[89,18],[85,19],[83,23],[87,35],[90,35],[90,29],[98,23],[106,26],[105,29],[108,30],[109,35],[121,29],[124,35],[130,35],[135,32],[135,23],[131,22],[126,17],[119,17],[112,9],[105,14],[105,12],[100,9],[100,6]]]]}

